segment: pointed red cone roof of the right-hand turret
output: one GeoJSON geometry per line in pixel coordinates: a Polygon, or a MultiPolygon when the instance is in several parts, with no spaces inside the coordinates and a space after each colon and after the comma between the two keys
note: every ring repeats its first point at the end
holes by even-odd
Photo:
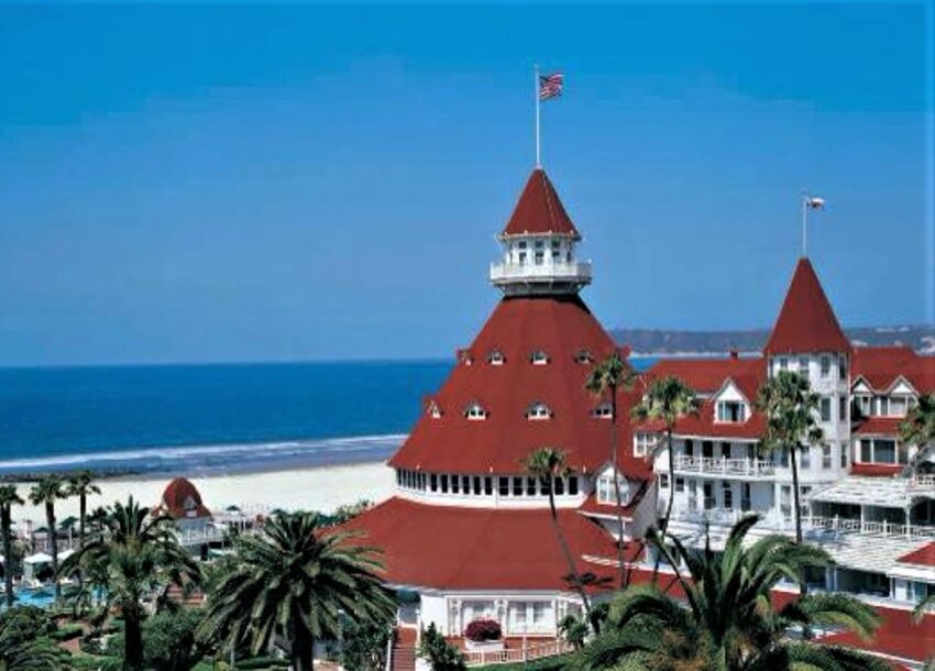
{"type": "Polygon", "coordinates": [[[849,351],[850,341],[837,322],[815,268],[807,258],[800,258],[763,352],[798,354],[849,351]]]}

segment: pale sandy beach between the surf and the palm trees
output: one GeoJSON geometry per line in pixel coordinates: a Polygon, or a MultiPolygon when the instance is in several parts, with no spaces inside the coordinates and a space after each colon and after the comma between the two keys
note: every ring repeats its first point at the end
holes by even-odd
{"type": "MultiPolygon", "coordinates": [[[[98,481],[99,495],[89,497],[88,509],[125,501],[132,495],[144,505],[153,506],[162,497],[169,482],[167,476],[106,479],[98,481]]],[[[235,505],[244,512],[272,508],[331,512],[338,506],[362,498],[378,502],[393,490],[393,471],[383,462],[364,462],[348,465],[329,465],[315,469],[294,469],[262,473],[238,473],[190,477],[198,487],[205,505],[212,510],[235,505]]],[[[45,510],[29,504],[32,483],[16,484],[25,506],[16,506],[13,519],[45,524],[45,510]]],[[[78,499],[66,498],[55,505],[55,515],[62,520],[78,516],[78,499]]]]}

